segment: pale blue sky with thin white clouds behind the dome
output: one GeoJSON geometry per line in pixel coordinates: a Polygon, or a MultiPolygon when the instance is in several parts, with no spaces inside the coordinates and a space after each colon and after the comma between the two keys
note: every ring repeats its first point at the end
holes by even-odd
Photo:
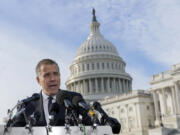
{"type": "Polygon", "coordinates": [[[153,74],[180,62],[179,0],[1,0],[0,123],[8,108],[40,91],[34,71],[40,59],[58,62],[65,88],[93,7],[102,35],[127,64],[134,90],[148,89],[153,74]]]}

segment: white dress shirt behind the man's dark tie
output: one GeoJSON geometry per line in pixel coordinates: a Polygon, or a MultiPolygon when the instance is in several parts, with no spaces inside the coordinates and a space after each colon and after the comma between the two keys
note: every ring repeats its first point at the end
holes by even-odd
{"type": "MultiPolygon", "coordinates": [[[[49,101],[49,96],[46,95],[43,91],[42,91],[42,97],[43,97],[43,108],[44,108],[44,115],[45,115],[45,119],[46,119],[46,123],[49,123],[49,111],[48,111],[48,101],[49,101]]],[[[52,96],[53,100],[52,103],[56,102],[56,95],[52,96]]]]}

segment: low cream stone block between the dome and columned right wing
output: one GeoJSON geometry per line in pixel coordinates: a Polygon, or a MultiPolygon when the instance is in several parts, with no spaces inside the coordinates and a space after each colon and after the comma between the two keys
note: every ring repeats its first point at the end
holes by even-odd
{"type": "Polygon", "coordinates": [[[100,102],[108,115],[121,123],[121,135],[148,135],[154,125],[154,105],[148,91],[136,90],[100,102]]]}

